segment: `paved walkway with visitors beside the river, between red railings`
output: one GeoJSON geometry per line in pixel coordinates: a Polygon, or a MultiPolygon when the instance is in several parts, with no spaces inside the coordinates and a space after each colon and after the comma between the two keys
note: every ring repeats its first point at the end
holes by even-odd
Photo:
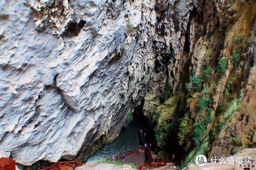
{"type": "Polygon", "coordinates": [[[128,157],[124,157],[124,161],[122,161],[121,159],[118,159],[118,161],[124,162],[126,164],[133,163],[137,167],[140,165],[143,165],[146,163],[145,150],[142,149],[142,152],[140,153],[140,155],[138,155],[137,153],[134,153],[129,155],[128,157]]]}

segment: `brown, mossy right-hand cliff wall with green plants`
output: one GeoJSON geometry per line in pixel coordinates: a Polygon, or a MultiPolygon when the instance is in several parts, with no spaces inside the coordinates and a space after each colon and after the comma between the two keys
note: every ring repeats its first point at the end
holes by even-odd
{"type": "Polygon", "coordinates": [[[174,4],[159,5],[166,22],[156,41],[170,58],[144,104],[158,146],[183,146],[182,166],[198,154],[221,158],[255,147],[255,1],[197,1],[183,16],[184,2],[174,4]]]}

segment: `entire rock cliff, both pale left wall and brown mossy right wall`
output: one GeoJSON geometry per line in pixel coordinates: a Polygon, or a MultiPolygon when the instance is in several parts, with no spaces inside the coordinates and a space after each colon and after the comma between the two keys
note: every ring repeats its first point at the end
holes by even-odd
{"type": "Polygon", "coordinates": [[[143,98],[159,147],[176,135],[186,162],[199,148],[255,147],[255,10],[242,0],[1,2],[0,148],[24,165],[86,159],[143,98]]]}

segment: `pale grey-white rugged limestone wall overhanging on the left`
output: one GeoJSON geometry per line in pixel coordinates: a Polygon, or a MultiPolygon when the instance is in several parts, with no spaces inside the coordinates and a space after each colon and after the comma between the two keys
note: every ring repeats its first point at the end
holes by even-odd
{"type": "Polygon", "coordinates": [[[154,3],[0,5],[0,148],[31,165],[82,160],[111,142],[150,81],[154,3]]]}

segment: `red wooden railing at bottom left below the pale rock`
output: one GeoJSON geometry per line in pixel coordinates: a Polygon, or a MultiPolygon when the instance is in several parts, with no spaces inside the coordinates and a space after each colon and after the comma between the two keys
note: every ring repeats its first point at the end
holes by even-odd
{"type": "MultiPolygon", "coordinates": [[[[75,170],[76,167],[82,166],[84,164],[75,161],[66,161],[66,162],[56,162],[55,164],[49,166],[49,167],[44,167],[43,169],[38,168],[39,170],[75,170]]],[[[30,168],[28,168],[30,170],[30,168]]]]}

